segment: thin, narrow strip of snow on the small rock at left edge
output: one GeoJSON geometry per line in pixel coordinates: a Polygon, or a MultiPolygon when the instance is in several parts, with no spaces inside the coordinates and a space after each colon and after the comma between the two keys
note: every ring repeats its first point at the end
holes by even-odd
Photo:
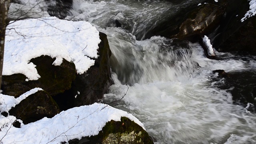
{"type": "Polygon", "coordinates": [[[0,94],[0,112],[8,112],[12,107],[19,104],[22,100],[24,100],[31,94],[38,92],[38,90],[42,90],[42,88],[33,88],[32,90],[25,92],[18,98],[14,98],[14,96],[0,94]]]}

